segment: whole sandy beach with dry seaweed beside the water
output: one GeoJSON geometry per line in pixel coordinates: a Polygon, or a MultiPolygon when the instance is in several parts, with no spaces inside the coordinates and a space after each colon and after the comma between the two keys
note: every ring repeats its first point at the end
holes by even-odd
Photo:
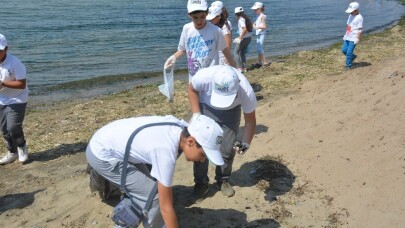
{"type": "MultiPolygon", "coordinates": [[[[194,204],[192,163],[180,157],[173,190],[180,226],[403,227],[404,20],[365,36],[356,52],[352,70],[343,69],[337,44],[248,71],[259,99],[257,129],[248,153],[234,162],[236,195],[226,198],[212,185],[194,204]]],[[[156,85],[144,85],[30,107],[30,161],[0,166],[0,227],[112,227],[117,201],[101,202],[89,189],[88,140],[120,118],[188,120],[186,86],[176,81],[173,103],[156,85]]]]}

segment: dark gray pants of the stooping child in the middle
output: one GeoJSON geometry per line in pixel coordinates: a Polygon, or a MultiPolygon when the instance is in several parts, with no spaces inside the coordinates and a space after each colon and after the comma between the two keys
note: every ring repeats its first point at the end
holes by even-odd
{"type": "MultiPolygon", "coordinates": [[[[221,126],[224,136],[221,143],[221,154],[225,164],[215,169],[215,180],[223,182],[228,180],[232,173],[232,164],[235,158],[233,143],[238,135],[240,125],[241,106],[230,110],[215,110],[206,104],[200,103],[201,113],[212,118],[221,126]]],[[[194,182],[206,184],[208,178],[208,159],[205,162],[194,162],[194,182]]]]}

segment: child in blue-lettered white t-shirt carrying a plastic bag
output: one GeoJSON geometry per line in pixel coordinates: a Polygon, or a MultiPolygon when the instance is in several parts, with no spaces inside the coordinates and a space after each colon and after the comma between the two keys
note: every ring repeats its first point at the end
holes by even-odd
{"type": "Polygon", "coordinates": [[[177,51],[166,60],[164,68],[172,68],[177,59],[186,54],[191,81],[198,70],[219,64],[218,51],[222,51],[229,65],[236,66],[220,29],[207,23],[207,1],[189,0],[187,10],[192,22],[183,26],[177,51]]]}

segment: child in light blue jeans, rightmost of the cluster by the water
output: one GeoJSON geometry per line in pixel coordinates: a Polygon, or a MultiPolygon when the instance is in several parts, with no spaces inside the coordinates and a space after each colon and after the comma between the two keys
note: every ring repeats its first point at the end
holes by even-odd
{"type": "Polygon", "coordinates": [[[266,15],[264,14],[264,5],[261,2],[255,2],[252,10],[258,15],[253,28],[256,30],[256,50],[257,50],[257,63],[254,65],[256,68],[268,65],[266,56],[264,55],[264,38],[266,37],[266,15]]]}

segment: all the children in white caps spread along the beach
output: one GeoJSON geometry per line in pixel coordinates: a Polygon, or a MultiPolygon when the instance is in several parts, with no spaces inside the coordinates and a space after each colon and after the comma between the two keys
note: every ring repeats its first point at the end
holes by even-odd
{"type": "MultiPolygon", "coordinates": [[[[267,64],[263,52],[264,5],[256,2],[252,9],[258,15],[253,24],[242,7],[234,11],[239,31],[233,40],[235,63],[230,53],[231,23],[223,3],[215,1],[208,7],[205,0],[189,0],[187,11],[191,22],[184,25],[178,51],[167,59],[165,68],[173,67],[182,55],[187,56],[190,120],[186,122],[171,115],[116,120],[99,129],[87,146],[91,174],[120,187],[123,196],[131,199],[129,211],[135,206],[146,209],[147,216],[140,215],[144,227],[178,227],[172,185],[176,160],[181,154],[194,162],[196,202],[203,200],[210,190],[209,162],[216,165],[218,190],[226,197],[235,194],[229,182],[232,164],[236,154],[248,151],[256,129],[256,95],[243,74],[253,29],[257,35],[257,66],[267,64]],[[241,113],[245,126],[239,139],[241,113]],[[157,194],[152,194],[155,188],[157,194]]],[[[346,67],[350,68],[362,31],[363,19],[358,11],[356,2],[346,10],[350,16],[342,52],[347,57],[346,67]]],[[[8,149],[0,164],[28,159],[22,129],[28,99],[26,69],[7,50],[7,40],[0,34],[0,126],[8,149]]],[[[96,183],[98,188],[103,186],[96,183]]],[[[129,217],[128,213],[116,215],[116,226],[133,226],[129,217]]]]}

